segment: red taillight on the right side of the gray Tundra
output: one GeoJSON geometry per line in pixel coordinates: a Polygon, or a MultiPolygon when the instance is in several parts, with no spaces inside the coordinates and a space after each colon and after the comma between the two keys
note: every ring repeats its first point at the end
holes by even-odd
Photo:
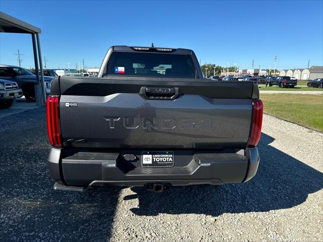
{"type": "Polygon", "coordinates": [[[252,109],[252,126],[248,146],[256,146],[260,139],[263,111],[262,101],[253,101],[252,109]]]}

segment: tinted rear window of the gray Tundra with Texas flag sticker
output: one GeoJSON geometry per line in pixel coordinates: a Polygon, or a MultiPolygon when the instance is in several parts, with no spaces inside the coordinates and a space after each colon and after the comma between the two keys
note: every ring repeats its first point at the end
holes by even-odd
{"type": "Polygon", "coordinates": [[[193,59],[187,54],[113,52],[107,75],[195,78],[193,59]]]}

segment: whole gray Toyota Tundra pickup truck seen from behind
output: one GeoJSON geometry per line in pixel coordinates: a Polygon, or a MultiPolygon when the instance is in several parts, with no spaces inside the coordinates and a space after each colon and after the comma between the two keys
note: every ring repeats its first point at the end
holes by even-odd
{"type": "Polygon", "coordinates": [[[46,106],[57,190],[244,183],[258,168],[258,85],[203,79],[190,49],[113,46],[97,78],[55,78],[46,106]]]}

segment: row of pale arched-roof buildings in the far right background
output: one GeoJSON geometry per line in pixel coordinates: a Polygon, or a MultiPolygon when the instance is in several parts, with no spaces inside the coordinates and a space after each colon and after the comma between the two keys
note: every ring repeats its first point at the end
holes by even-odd
{"type": "Polygon", "coordinates": [[[298,80],[314,80],[323,78],[323,66],[312,66],[307,69],[282,70],[280,76],[295,77],[298,80]]]}

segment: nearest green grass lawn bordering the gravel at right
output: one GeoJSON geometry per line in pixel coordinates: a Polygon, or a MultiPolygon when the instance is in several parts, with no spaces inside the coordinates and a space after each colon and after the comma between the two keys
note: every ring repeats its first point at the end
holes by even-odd
{"type": "Polygon", "coordinates": [[[323,95],[262,93],[260,99],[265,113],[323,131],[323,95]]]}

